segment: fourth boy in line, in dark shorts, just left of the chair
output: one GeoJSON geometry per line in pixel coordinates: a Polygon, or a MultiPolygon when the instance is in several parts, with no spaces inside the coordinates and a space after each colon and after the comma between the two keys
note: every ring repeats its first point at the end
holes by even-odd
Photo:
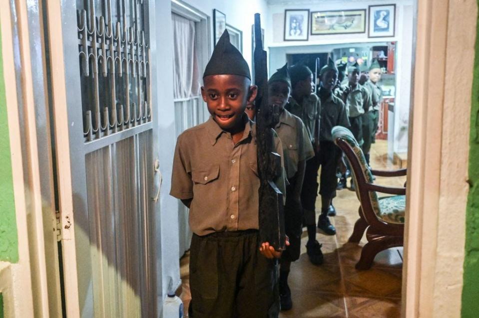
{"type": "Polygon", "coordinates": [[[336,167],[342,156],[341,150],[333,143],[331,130],[334,126],[349,128],[348,114],[341,99],[333,94],[333,88],[338,80],[338,69],[334,61],[329,58],[328,64],[320,71],[321,88],[319,98],[321,100],[321,130],[319,163],[321,165],[320,190],[321,215],[318,220],[318,228],[323,228],[329,223],[328,212],[332,206],[332,200],[336,196],[336,167]]]}

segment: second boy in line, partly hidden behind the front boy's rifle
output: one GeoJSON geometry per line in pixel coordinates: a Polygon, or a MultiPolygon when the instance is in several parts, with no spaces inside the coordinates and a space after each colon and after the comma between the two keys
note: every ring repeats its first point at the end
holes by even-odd
{"type": "Polygon", "coordinates": [[[284,207],[285,231],[290,245],[281,256],[279,275],[279,293],[281,310],[290,310],[293,306],[288,275],[291,262],[300,255],[301,234],[303,233],[303,211],[301,207],[301,190],[303,188],[306,160],[314,157],[313,145],[301,119],[284,107],[291,94],[291,79],[287,65],[278,69],[268,81],[269,103],[280,108],[279,122],[275,127],[281,139],[284,154],[284,166],[289,185],[286,186],[286,204],[284,207]]]}

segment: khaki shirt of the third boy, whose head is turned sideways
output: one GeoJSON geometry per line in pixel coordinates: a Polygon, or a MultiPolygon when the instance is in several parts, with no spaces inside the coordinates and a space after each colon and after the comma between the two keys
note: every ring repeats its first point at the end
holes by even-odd
{"type": "Polygon", "coordinates": [[[291,101],[286,104],[285,108],[291,114],[301,118],[304,126],[306,126],[306,130],[308,131],[309,139],[314,144],[315,140],[319,138],[319,136],[315,136],[315,131],[316,123],[319,123],[321,116],[321,103],[318,96],[311,94],[310,96],[303,98],[302,105],[299,105],[298,102],[291,97],[291,101]]]}

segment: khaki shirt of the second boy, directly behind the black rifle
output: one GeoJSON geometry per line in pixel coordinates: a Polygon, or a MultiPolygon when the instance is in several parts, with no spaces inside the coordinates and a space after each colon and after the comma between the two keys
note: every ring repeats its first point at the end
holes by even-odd
{"type": "Polygon", "coordinates": [[[290,179],[298,171],[299,161],[314,157],[313,145],[301,119],[287,110],[281,113],[274,130],[283,145],[284,167],[286,176],[290,179]]]}

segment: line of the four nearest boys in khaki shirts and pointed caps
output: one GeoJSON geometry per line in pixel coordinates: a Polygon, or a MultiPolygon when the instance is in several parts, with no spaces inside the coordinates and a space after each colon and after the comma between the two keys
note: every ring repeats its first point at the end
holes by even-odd
{"type": "Polygon", "coordinates": [[[337,77],[330,60],[321,70],[320,98],[312,94],[312,73],[306,66],[288,70],[285,65],[269,80],[270,103],[282,110],[275,148],[288,181],[285,186],[283,177],[276,180],[285,193],[289,241],[284,252],[275,251],[268,242],[258,242],[256,128],[245,113],[247,108],[254,111],[257,87],[251,85],[249,67],[227,31],[218,41],[201,88],[211,117],[178,137],[170,192],[190,208],[191,317],[278,317],[280,303],[281,309],[290,309],[287,280],[290,264],[300,254],[303,211],[308,255],[313,263],[322,263],[314,212],[317,172],[322,165],[318,225],[334,234],[327,214],[341,153],[332,143],[331,128],[349,127],[345,105],[332,93],[337,77]],[[306,178],[305,171],[314,178],[306,178]]]}

